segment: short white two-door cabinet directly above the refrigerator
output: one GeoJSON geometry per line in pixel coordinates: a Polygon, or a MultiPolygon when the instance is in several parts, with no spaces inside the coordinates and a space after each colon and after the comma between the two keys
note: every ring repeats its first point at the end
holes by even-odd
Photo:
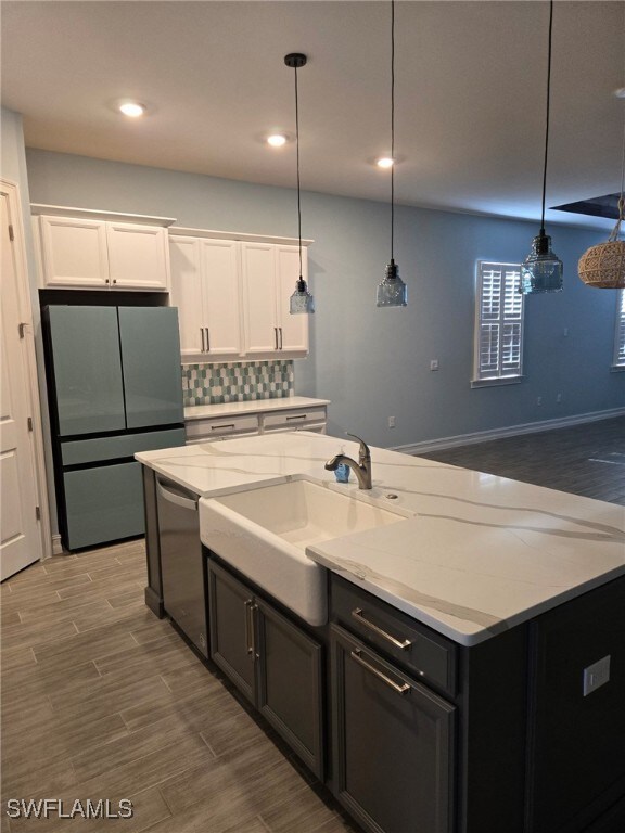
{"type": "MultiPolygon", "coordinates": [[[[43,289],[169,290],[166,225],[130,222],[102,212],[33,206],[43,289]],[[42,213],[48,209],[50,213],[42,213]],[[79,216],[69,216],[68,212],[79,216]]],[[[150,220],[151,218],[142,218],[150,220]]]]}

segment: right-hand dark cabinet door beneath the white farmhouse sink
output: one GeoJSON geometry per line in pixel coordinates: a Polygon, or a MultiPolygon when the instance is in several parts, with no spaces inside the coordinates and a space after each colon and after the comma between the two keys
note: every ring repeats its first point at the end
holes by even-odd
{"type": "Polygon", "coordinates": [[[257,706],[307,767],[323,779],[321,645],[256,599],[257,706]]]}

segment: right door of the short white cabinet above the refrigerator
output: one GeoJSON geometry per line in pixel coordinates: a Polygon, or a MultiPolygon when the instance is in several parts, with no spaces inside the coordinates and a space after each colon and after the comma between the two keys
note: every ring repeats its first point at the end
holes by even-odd
{"type": "Polygon", "coordinates": [[[111,285],[117,290],[169,289],[167,229],[106,223],[111,285]]]}

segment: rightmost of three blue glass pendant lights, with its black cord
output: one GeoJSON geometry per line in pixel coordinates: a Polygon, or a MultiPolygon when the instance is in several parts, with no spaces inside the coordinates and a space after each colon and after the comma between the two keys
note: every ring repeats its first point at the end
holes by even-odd
{"type": "Polygon", "coordinates": [[[551,31],[553,28],[553,0],[549,2],[549,48],[547,53],[547,118],[545,121],[545,164],[543,166],[543,209],[540,231],[532,241],[532,252],[521,264],[519,292],[523,295],[539,292],[560,292],[562,289],[562,260],[551,251],[551,238],[545,233],[545,190],[547,187],[547,151],[549,146],[549,98],[551,89],[551,31]]]}

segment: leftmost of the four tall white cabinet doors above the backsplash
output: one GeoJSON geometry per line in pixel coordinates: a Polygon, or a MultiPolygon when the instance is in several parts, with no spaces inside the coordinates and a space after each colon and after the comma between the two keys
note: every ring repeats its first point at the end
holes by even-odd
{"type": "Polygon", "coordinates": [[[178,307],[180,355],[182,359],[197,359],[206,349],[206,336],[201,330],[203,313],[200,241],[197,238],[171,236],[169,255],[171,304],[178,307]]]}

